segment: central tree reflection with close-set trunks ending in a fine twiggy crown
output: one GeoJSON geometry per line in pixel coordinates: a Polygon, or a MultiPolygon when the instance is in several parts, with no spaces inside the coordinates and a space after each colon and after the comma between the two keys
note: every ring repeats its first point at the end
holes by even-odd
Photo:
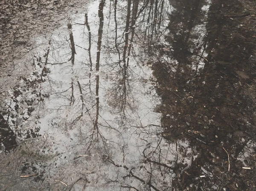
{"type": "MultiPolygon", "coordinates": [[[[115,1],[114,5],[114,22],[115,22],[115,48],[117,52],[113,52],[114,54],[118,54],[119,60],[114,63],[113,65],[109,65],[113,67],[113,70],[116,71],[115,77],[116,81],[113,83],[113,86],[109,90],[108,97],[110,98],[109,104],[113,107],[114,110],[116,110],[119,115],[121,116],[122,120],[127,119],[125,116],[126,106],[128,106],[129,110],[134,110],[134,97],[131,93],[131,86],[129,84],[128,77],[131,76],[129,74],[129,60],[131,56],[131,50],[133,47],[133,39],[134,39],[134,31],[135,31],[135,23],[136,23],[136,16],[137,16],[137,10],[138,10],[138,4],[139,1],[135,0],[133,3],[132,1],[128,1],[127,3],[127,9],[126,9],[126,15],[125,15],[125,23],[122,23],[124,26],[124,32],[121,34],[120,29],[117,28],[117,16],[116,16],[116,9],[117,9],[117,0],[115,1]],[[131,9],[132,5],[132,9],[131,9]],[[119,43],[117,43],[117,40],[119,40],[119,43]],[[123,42],[122,42],[123,40],[123,42]],[[120,45],[123,48],[120,47],[120,45]],[[122,65],[121,65],[121,56],[120,56],[120,49],[123,49],[122,54],[122,65]],[[118,67],[116,69],[116,67],[118,67]],[[133,101],[131,101],[133,100],[133,101]]],[[[121,28],[121,27],[120,27],[121,28]]],[[[113,55],[115,57],[115,55],[113,55]]],[[[131,71],[133,73],[133,71],[131,71]]]]}

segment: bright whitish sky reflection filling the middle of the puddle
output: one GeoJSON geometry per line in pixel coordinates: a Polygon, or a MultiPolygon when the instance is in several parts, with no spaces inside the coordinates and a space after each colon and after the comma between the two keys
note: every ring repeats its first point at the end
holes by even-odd
{"type": "MultiPolygon", "coordinates": [[[[122,3],[123,5],[123,3],[122,3]]],[[[117,5],[119,7],[119,5],[117,5]]],[[[99,17],[97,15],[98,2],[92,3],[88,11],[88,23],[90,25],[91,36],[91,55],[93,60],[93,71],[91,79],[89,79],[89,55],[88,51],[88,31],[86,26],[73,25],[72,31],[76,46],[76,55],[74,66],[71,62],[67,62],[60,65],[49,66],[51,73],[48,75],[49,84],[45,83],[45,91],[50,92],[49,100],[46,101],[46,110],[42,112],[42,116],[47,112],[47,115],[41,118],[41,133],[47,132],[55,137],[55,141],[58,144],[56,148],[59,152],[65,153],[64,156],[75,156],[77,154],[83,154],[84,152],[94,153],[91,156],[92,161],[88,161],[90,165],[93,165],[94,160],[100,161],[97,158],[101,154],[111,156],[111,160],[120,165],[126,165],[129,168],[131,166],[138,168],[140,165],[139,160],[143,159],[142,153],[145,149],[146,143],[151,143],[151,147],[145,150],[146,156],[151,156],[154,159],[154,150],[159,150],[158,146],[163,146],[165,149],[161,151],[162,158],[160,161],[173,160],[176,146],[169,146],[164,140],[160,141],[160,136],[156,134],[161,133],[160,114],[154,112],[155,105],[160,103],[160,99],[155,97],[156,92],[152,90],[151,80],[154,78],[151,74],[151,70],[144,66],[145,54],[141,54],[140,45],[135,46],[132,50],[132,55],[129,57],[129,67],[126,83],[127,97],[126,97],[126,109],[125,114],[120,113],[119,107],[115,106],[115,97],[112,97],[119,88],[122,89],[123,75],[120,72],[118,66],[118,54],[114,47],[115,37],[115,23],[113,17],[113,5],[111,8],[111,16],[109,15],[109,3],[106,3],[104,7],[104,29],[102,36],[102,49],[99,69],[99,131],[103,138],[98,140],[95,137],[91,138],[94,121],[96,120],[96,51],[98,40],[98,27],[99,17]],[[106,19],[108,17],[108,19],[106,19]],[[85,49],[84,49],[85,48],[85,49]],[[137,57],[134,58],[133,55],[137,57]],[[143,62],[144,60],[144,62],[143,62]],[[72,74],[71,74],[72,73],[72,74]],[[89,80],[91,91],[89,90],[89,80]],[[80,93],[77,81],[79,81],[83,93],[80,93]],[[71,83],[73,82],[73,91],[75,102],[70,105],[68,99],[71,95],[71,83]],[[80,96],[83,96],[85,101],[84,113],[79,120],[75,120],[81,113],[81,100],[80,96]],[[87,112],[87,110],[89,110],[87,112]],[[125,120],[124,116],[125,115],[125,120]],[[74,123],[71,123],[75,121],[74,123]],[[48,124],[53,125],[48,125],[48,124]],[[147,125],[158,125],[147,126],[147,125]],[[137,128],[137,127],[141,128],[137,128]],[[111,127],[111,128],[109,128],[111,127]],[[72,140],[72,141],[70,141],[72,140]],[[92,142],[90,145],[89,142],[92,142]],[[90,145],[90,147],[88,146],[90,145]],[[88,150],[86,150],[88,149],[88,150]],[[172,152],[171,152],[172,151],[172,152]]],[[[124,46],[122,39],[123,31],[125,28],[125,14],[117,11],[118,20],[118,37],[117,42],[120,51],[124,46]],[[124,21],[121,23],[120,21],[124,21]]],[[[84,23],[84,18],[75,20],[76,23],[84,23]]],[[[166,23],[166,22],[165,22],[166,23]]],[[[166,26],[161,26],[161,28],[166,26]]],[[[140,28],[144,30],[143,26],[140,28]]],[[[160,29],[161,31],[162,29],[160,29]]],[[[49,58],[49,63],[62,63],[70,58],[70,47],[66,39],[68,34],[55,34],[52,36],[52,58],[49,58]],[[58,47],[58,48],[55,48],[58,47]]],[[[162,38],[163,40],[163,38],[162,38]]],[[[135,43],[139,43],[135,40],[135,43]]],[[[161,43],[161,41],[159,41],[161,43]]],[[[121,54],[122,57],[122,54],[121,54]]],[[[122,65],[123,63],[121,63],[122,65]]],[[[121,91],[122,93],[122,91],[121,91]]],[[[184,143],[178,143],[186,145],[184,143]]],[[[54,145],[56,146],[56,144],[54,145]]],[[[154,151],[155,152],[155,151],[154,151]]],[[[69,160],[72,158],[70,157],[69,160]]],[[[189,161],[185,160],[185,161],[189,161]]],[[[58,161],[55,161],[58,164],[58,161]]],[[[61,161],[59,161],[61,162],[61,161]]],[[[63,164],[63,162],[61,162],[63,164]]],[[[67,163],[66,165],[68,165],[67,163]]],[[[145,168],[148,168],[144,164],[145,168]]],[[[99,169],[98,169],[99,170],[99,169]]],[[[124,169],[116,169],[114,166],[101,167],[101,170],[107,174],[107,177],[114,178],[115,175],[111,171],[127,174],[124,169]]],[[[137,172],[134,172],[135,174],[137,172]]],[[[97,174],[97,177],[100,175],[97,174]]],[[[144,175],[143,175],[144,176],[144,175]]],[[[159,176],[159,174],[155,174],[159,176]]],[[[147,176],[146,176],[147,177],[147,176]]],[[[135,181],[136,182],[136,181],[135,181]]],[[[169,181],[168,181],[169,182],[169,181]]],[[[127,182],[126,182],[127,183],[127,182]]],[[[132,185],[137,185],[133,181],[129,182],[132,185]]],[[[122,183],[124,184],[124,183],[122,183]]],[[[93,188],[91,188],[93,189],[93,188]]]]}

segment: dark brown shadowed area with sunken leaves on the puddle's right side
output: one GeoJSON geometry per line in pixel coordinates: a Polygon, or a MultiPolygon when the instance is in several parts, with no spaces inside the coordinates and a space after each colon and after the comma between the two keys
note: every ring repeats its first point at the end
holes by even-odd
{"type": "MultiPolygon", "coordinates": [[[[190,52],[188,47],[194,46],[189,40],[192,26],[204,17],[198,11],[200,2],[179,1],[177,12],[170,17],[174,36],[180,32],[180,28],[174,27],[177,20],[183,23],[182,31],[186,31],[174,39],[166,38],[175,43],[172,57],[179,63],[177,71],[170,74],[165,63],[153,64],[161,87],[158,94],[164,104],[159,111],[173,116],[162,118],[164,137],[171,142],[188,139],[195,150],[191,168],[173,183],[180,190],[253,191],[256,148],[247,143],[256,141],[256,2],[212,1],[206,25],[208,34],[196,47],[203,47],[208,55],[201,58],[204,68],[196,71],[190,67],[194,61],[191,56],[200,55],[196,48],[190,52]],[[241,152],[250,153],[244,161],[250,170],[242,168],[241,152]],[[198,178],[202,167],[208,172],[203,180],[198,178]]],[[[177,165],[177,174],[184,168],[181,165],[177,165]]]]}

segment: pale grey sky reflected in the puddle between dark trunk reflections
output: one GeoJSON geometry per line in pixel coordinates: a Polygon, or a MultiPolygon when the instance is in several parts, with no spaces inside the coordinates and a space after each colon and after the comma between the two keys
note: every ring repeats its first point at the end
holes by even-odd
{"type": "MultiPolygon", "coordinates": [[[[141,165],[148,170],[152,168],[151,163],[143,162],[145,157],[169,166],[172,166],[172,161],[175,157],[178,157],[177,160],[182,160],[184,166],[186,166],[190,161],[192,151],[188,148],[187,141],[177,141],[176,144],[170,145],[164,139],[161,139],[161,132],[163,131],[162,127],[160,127],[161,114],[154,112],[154,107],[160,104],[160,98],[155,96],[154,85],[151,84],[152,80],[154,81],[154,77],[150,68],[146,65],[151,58],[144,51],[144,47],[148,46],[147,41],[149,41],[149,39],[144,38],[144,31],[150,25],[144,22],[143,14],[140,14],[137,19],[135,30],[138,37],[134,37],[134,46],[129,56],[125,113],[121,113],[119,107],[114,107],[116,100],[115,97],[112,97],[113,92],[119,91],[119,88],[122,90],[123,84],[120,81],[122,81],[123,75],[117,64],[119,58],[114,45],[113,2],[111,2],[111,8],[109,3],[107,2],[104,7],[104,29],[99,69],[99,132],[97,133],[102,137],[91,136],[93,131],[95,132],[93,126],[96,120],[95,65],[99,29],[99,2],[97,1],[91,3],[88,8],[93,62],[91,77],[89,78],[90,61],[87,51],[89,46],[87,27],[74,24],[84,23],[84,15],[81,15],[81,17],[71,22],[76,45],[73,66],[71,61],[67,61],[71,57],[67,26],[63,25],[61,27],[63,30],[53,32],[47,61],[50,73],[43,77],[43,80],[46,81],[41,83],[39,89],[35,88],[37,91],[40,90],[45,94],[49,94],[49,98],[45,98],[42,105],[36,108],[37,114],[29,118],[26,122],[26,128],[34,125],[34,117],[40,117],[38,119],[40,124],[38,126],[41,128],[40,134],[44,135],[45,139],[51,139],[50,145],[54,152],[61,153],[61,156],[55,158],[55,167],[67,170],[70,176],[75,177],[77,172],[80,171],[79,169],[84,168],[84,166],[91,171],[97,171],[96,175],[89,175],[91,179],[102,178],[102,176],[114,179],[116,174],[121,174],[119,178],[129,174],[125,169],[116,168],[113,165],[105,164],[99,166],[98,163],[102,161],[102,154],[105,154],[109,155],[116,164],[126,165],[128,168],[134,167],[134,174],[147,180],[148,174],[144,170],[139,170],[141,165]],[[72,89],[75,100],[73,104],[70,104],[72,89]],[[84,100],[84,108],[81,96],[84,100]],[[83,115],[81,116],[82,112],[83,115]],[[125,115],[125,118],[123,115],[125,115]],[[146,146],[147,144],[150,146],[146,146]],[[187,154],[177,154],[180,149],[187,149],[187,154]],[[86,164],[74,165],[73,157],[79,154],[86,155],[86,164]]],[[[126,11],[123,10],[125,8],[125,3],[117,5],[117,42],[120,43],[118,47],[121,52],[121,59],[122,48],[125,45],[123,39],[126,17],[126,11]]],[[[166,27],[170,10],[169,3],[165,3],[162,13],[163,19],[160,27],[156,27],[157,33],[152,33],[151,29],[146,33],[146,36],[152,34],[150,46],[169,46],[168,44],[166,45],[164,34],[167,34],[166,27]]],[[[38,57],[41,56],[43,58],[46,51],[38,54],[38,57]]],[[[163,57],[162,59],[165,58],[163,57]]],[[[170,57],[166,57],[166,60],[170,60],[170,57]]],[[[41,67],[35,65],[35,71],[40,73],[41,69],[41,67]]],[[[36,77],[31,75],[31,79],[36,80],[36,77]]],[[[120,92],[122,93],[122,91],[120,92]]],[[[34,106],[36,107],[36,105],[34,106]]],[[[88,173],[86,170],[84,171],[88,173]]],[[[166,173],[168,174],[169,171],[166,171],[166,173]]],[[[157,184],[157,180],[161,176],[160,171],[155,168],[152,176],[152,182],[157,184]]],[[[163,177],[163,179],[166,179],[166,182],[171,182],[168,176],[163,177]]],[[[101,183],[104,182],[103,180],[102,178],[101,183]]],[[[125,182],[121,181],[119,183],[121,185],[140,185],[137,180],[132,179],[126,179],[125,182]]]]}

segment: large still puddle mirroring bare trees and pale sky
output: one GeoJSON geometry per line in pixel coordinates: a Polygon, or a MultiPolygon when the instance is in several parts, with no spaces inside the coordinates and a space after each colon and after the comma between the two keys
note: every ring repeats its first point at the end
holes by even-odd
{"type": "MultiPolygon", "coordinates": [[[[92,1],[56,29],[33,56],[31,74],[5,92],[1,157],[17,167],[15,185],[8,176],[2,185],[250,188],[255,123],[242,85],[253,91],[253,84],[250,66],[234,61],[250,54],[239,49],[244,59],[232,57],[221,37],[228,24],[212,19],[215,6],[92,1]],[[221,46],[229,58],[219,57],[221,46]]],[[[3,166],[12,172],[11,165],[3,166]]]]}

